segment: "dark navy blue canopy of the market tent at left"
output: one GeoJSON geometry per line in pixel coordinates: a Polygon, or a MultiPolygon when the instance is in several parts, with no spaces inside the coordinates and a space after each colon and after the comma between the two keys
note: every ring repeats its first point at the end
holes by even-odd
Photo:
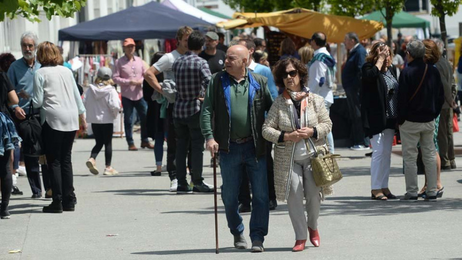
{"type": "Polygon", "coordinates": [[[61,29],[58,38],[60,41],[174,39],[178,28],[185,25],[193,29],[213,26],[197,17],[150,2],[61,29]]]}

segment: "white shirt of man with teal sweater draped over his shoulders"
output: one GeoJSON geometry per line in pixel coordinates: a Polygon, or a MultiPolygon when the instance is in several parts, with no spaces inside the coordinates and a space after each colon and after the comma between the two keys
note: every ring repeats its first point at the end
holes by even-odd
{"type": "MultiPolygon", "coordinates": [[[[325,47],[319,48],[314,52],[314,55],[318,53],[325,53],[328,55],[331,55],[329,51],[325,47]]],[[[321,61],[315,61],[313,64],[310,66],[310,70],[308,72],[308,88],[310,89],[310,92],[317,94],[321,97],[324,98],[325,101],[334,104],[334,94],[332,92],[332,89],[329,88],[329,84],[327,84],[328,79],[327,79],[327,70],[328,66],[321,62],[321,61]],[[321,79],[323,84],[320,86],[321,79]]]]}

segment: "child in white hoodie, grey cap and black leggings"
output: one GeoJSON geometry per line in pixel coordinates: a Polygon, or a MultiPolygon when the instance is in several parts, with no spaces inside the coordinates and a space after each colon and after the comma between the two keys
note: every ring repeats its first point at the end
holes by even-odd
{"type": "Polygon", "coordinates": [[[83,102],[87,110],[87,122],[91,123],[91,129],[96,141],[86,165],[94,175],[99,174],[95,159],[103,145],[105,146],[104,156],[106,159],[106,168],[103,174],[118,174],[111,167],[112,132],[113,121],[121,110],[121,102],[117,90],[113,87],[114,82],[111,77],[112,70],[110,68],[100,67],[94,84],[90,84],[84,94],[83,102]]]}

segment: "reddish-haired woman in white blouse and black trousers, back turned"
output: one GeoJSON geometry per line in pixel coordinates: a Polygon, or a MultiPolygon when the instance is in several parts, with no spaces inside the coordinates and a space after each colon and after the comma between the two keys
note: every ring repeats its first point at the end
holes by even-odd
{"type": "Polygon", "coordinates": [[[42,64],[34,73],[33,105],[40,108],[42,139],[50,171],[53,202],[45,213],[74,211],[72,144],[79,129],[79,117],[86,127],[85,107],[72,71],[63,64],[60,50],[50,42],[37,47],[37,61],[42,64]]]}

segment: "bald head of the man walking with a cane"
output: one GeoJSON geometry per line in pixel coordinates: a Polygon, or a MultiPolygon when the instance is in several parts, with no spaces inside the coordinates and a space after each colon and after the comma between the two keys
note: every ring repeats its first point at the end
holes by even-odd
{"type": "Polygon", "coordinates": [[[225,69],[229,75],[238,78],[245,73],[249,59],[248,49],[242,45],[233,45],[226,51],[225,69]]]}

